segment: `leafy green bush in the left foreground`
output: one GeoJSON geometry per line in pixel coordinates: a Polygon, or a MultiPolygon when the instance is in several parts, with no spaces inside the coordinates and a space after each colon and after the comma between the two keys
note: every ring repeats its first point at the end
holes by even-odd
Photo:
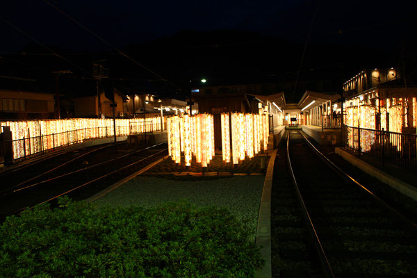
{"type": "Polygon", "coordinates": [[[253,277],[259,247],[227,210],[97,208],[63,198],[0,227],[0,277],[253,277]]]}

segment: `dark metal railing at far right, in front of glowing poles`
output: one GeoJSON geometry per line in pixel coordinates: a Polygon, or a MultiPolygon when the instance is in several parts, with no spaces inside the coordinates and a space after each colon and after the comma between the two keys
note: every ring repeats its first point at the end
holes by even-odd
{"type": "Polygon", "coordinates": [[[417,170],[417,135],[345,126],[345,147],[358,156],[379,158],[382,165],[391,163],[406,170],[417,170]]]}

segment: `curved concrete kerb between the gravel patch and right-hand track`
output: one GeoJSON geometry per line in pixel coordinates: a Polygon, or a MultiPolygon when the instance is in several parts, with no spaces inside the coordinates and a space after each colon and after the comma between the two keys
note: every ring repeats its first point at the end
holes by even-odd
{"type": "Polygon", "coordinates": [[[261,206],[259,207],[258,225],[256,227],[256,245],[262,246],[261,257],[265,259],[265,266],[256,272],[256,278],[272,277],[271,265],[271,193],[272,177],[274,175],[275,156],[277,149],[272,151],[268,169],[266,170],[265,181],[261,197],[261,206]]]}

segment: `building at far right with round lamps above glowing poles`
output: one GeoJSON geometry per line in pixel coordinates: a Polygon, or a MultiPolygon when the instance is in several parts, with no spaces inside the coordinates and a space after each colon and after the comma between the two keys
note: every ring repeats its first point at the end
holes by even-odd
{"type": "Polygon", "coordinates": [[[417,88],[394,67],[363,70],[343,84],[347,126],[416,133],[417,88]]]}

